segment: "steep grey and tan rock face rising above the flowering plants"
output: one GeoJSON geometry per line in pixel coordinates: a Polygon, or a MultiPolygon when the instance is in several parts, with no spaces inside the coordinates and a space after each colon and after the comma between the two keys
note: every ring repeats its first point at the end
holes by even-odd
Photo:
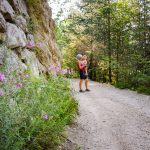
{"type": "Polygon", "coordinates": [[[0,71],[7,61],[9,71],[38,77],[60,63],[51,16],[47,0],[0,0],[0,71]]]}

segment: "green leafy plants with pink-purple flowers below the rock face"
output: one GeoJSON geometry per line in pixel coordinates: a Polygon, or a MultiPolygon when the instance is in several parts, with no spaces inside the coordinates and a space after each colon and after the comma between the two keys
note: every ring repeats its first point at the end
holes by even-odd
{"type": "Polygon", "coordinates": [[[0,96],[0,149],[55,149],[77,111],[69,80],[6,78],[0,83],[5,93],[0,96]]]}

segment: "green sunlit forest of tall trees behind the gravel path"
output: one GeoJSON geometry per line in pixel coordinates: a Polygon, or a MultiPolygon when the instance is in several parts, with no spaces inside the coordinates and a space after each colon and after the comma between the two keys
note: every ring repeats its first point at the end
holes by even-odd
{"type": "Polygon", "coordinates": [[[82,0],[78,8],[57,20],[64,66],[76,71],[76,55],[86,54],[90,79],[150,94],[150,1],[82,0]]]}

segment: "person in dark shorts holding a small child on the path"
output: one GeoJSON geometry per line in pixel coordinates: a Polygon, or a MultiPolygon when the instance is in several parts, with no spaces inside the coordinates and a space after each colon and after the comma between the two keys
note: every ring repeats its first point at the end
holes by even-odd
{"type": "Polygon", "coordinates": [[[77,58],[78,58],[78,62],[77,62],[77,65],[78,65],[78,68],[79,68],[79,73],[80,73],[80,82],[79,82],[79,92],[84,92],[82,90],[82,83],[83,83],[83,80],[85,80],[85,87],[86,87],[86,90],[85,91],[90,91],[88,89],[88,75],[86,74],[86,69],[87,69],[87,64],[85,65],[85,60],[83,58],[83,56],[81,54],[78,54],[77,55],[77,58]]]}

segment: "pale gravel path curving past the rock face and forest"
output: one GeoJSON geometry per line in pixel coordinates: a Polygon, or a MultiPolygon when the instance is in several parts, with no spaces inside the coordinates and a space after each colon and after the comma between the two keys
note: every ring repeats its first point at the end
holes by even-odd
{"type": "MultiPolygon", "coordinates": [[[[78,80],[73,87],[78,91],[78,80]]],[[[81,150],[150,150],[150,96],[92,81],[90,89],[75,94],[80,115],[68,129],[71,143],[81,150]]]]}

